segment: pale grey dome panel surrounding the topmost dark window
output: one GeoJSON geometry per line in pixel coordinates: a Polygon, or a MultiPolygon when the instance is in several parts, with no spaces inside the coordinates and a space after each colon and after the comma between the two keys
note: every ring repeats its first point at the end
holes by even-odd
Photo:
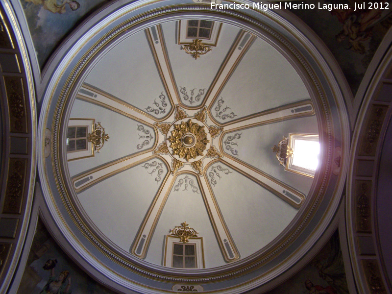
{"type": "MultiPolygon", "coordinates": [[[[181,22],[186,22],[182,20],[181,22]]],[[[214,25],[219,25],[214,22],[214,25]]],[[[175,88],[185,107],[203,104],[211,83],[215,79],[240,29],[233,25],[222,24],[216,47],[195,59],[178,45],[178,22],[162,24],[166,49],[168,52],[175,88]],[[177,34],[176,34],[177,32],[177,34]]]]}

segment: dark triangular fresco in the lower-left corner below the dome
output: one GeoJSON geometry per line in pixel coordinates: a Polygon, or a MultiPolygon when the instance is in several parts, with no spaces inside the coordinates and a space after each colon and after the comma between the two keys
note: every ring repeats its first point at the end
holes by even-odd
{"type": "Polygon", "coordinates": [[[115,294],[98,284],[56,245],[38,220],[17,294],[115,294]]]}

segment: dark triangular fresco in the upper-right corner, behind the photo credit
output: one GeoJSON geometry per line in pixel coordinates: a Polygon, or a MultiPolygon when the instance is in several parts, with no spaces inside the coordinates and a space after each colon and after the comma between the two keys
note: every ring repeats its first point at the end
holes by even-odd
{"type": "MultiPolygon", "coordinates": [[[[354,7],[355,0],[318,2],[321,5],[347,3],[354,7]]],[[[332,11],[292,9],[291,11],[309,25],[331,50],[355,96],[376,49],[392,25],[391,9],[357,9],[356,11],[354,9],[332,11]]]]}

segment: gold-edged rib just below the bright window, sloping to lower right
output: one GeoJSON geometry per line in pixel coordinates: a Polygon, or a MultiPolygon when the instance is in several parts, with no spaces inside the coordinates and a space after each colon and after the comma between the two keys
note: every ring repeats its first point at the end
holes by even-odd
{"type": "MultiPolygon", "coordinates": [[[[268,174],[256,170],[255,168],[247,165],[245,162],[242,162],[237,158],[233,158],[232,156],[226,154],[224,159],[221,159],[219,161],[229,166],[233,170],[236,170],[237,172],[243,174],[252,181],[258,183],[260,186],[264,187],[274,195],[280,197],[282,200],[286,201],[294,208],[300,208],[305,200],[305,196],[302,193],[285,185],[281,181],[274,179],[268,174]]],[[[209,165],[214,162],[215,161],[212,161],[209,165]]]]}

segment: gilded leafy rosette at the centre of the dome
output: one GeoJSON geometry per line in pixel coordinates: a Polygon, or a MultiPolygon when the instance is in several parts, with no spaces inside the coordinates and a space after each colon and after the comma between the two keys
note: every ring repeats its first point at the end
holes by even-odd
{"type": "Polygon", "coordinates": [[[204,156],[203,151],[210,142],[204,131],[204,125],[200,126],[189,120],[173,126],[174,129],[168,138],[173,155],[178,155],[187,161],[197,156],[204,156]]]}

